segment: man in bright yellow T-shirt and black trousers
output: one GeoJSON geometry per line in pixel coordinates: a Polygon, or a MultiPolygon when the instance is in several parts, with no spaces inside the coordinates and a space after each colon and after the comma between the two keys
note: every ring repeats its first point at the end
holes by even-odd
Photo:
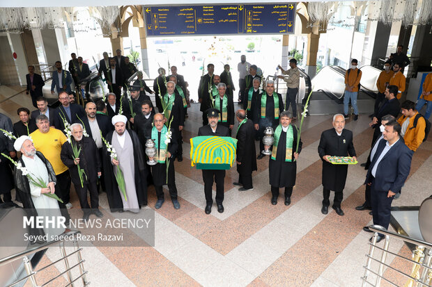
{"type": "Polygon", "coordinates": [[[60,208],[71,208],[72,204],[69,202],[70,174],[68,167],[63,164],[60,158],[61,146],[67,141],[67,138],[59,129],[49,126],[46,115],[38,115],[36,125],[38,129],[33,131],[30,136],[36,150],[42,152],[56,173],[56,195],[63,200],[63,204],[59,202],[59,206],[60,208]]]}

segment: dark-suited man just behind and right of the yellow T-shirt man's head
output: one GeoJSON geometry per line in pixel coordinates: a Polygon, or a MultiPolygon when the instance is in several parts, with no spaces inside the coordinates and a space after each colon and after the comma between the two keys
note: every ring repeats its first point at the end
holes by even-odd
{"type": "Polygon", "coordinates": [[[69,124],[73,124],[77,122],[78,117],[83,119],[86,116],[86,112],[82,106],[77,104],[70,104],[69,95],[67,92],[61,92],[59,94],[59,101],[61,105],[56,108],[56,114],[54,116],[54,126],[56,129],[59,129],[65,132],[65,123],[66,120],[69,124]]]}

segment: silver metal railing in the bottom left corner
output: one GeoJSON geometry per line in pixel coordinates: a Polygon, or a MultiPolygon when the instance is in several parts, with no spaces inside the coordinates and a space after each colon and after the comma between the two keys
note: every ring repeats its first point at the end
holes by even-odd
{"type": "MultiPolygon", "coordinates": [[[[62,277],[64,274],[66,275],[66,282],[67,284],[66,286],[77,286],[77,281],[79,281],[79,279],[81,279],[82,281],[82,285],[80,284],[80,286],[88,286],[90,284],[89,281],[87,281],[86,279],[86,274],[88,273],[86,270],[84,270],[84,262],[85,260],[82,259],[81,256],[81,251],[82,251],[82,247],[79,247],[77,239],[76,239],[76,234],[79,233],[79,231],[70,231],[68,233],[63,233],[63,235],[65,236],[74,236],[74,240],[72,241],[72,245],[75,249],[74,252],[71,252],[70,254],[67,254],[66,249],[65,249],[65,240],[53,240],[50,241],[49,243],[44,243],[43,245],[40,245],[38,247],[33,247],[31,249],[28,250],[24,250],[23,252],[19,252],[17,254],[13,254],[10,255],[6,258],[0,259],[0,266],[1,265],[6,265],[8,263],[12,263],[13,261],[16,261],[17,259],[22,259],[23,263],[24,263],[24,270],[26,271],[26,276],[21,278],[21,279],[17,279],[16,281],[12,282],[11,284],[9,284],[6,287],[11,287],[11,286],[16,286],[17,284],[20,283],[25,283],[25,281],[29,280],[30,282],[30,286],[31,287],[43,287],[43,286],[47,286],[48,284],[52,283],[54,280],[62,277]],[[54,245],[59,244],[60,247],[60,253],[61,253],[61,258],[49,263],[48,265],[44,266],[43,268],[40,268],[39,270],[33,270],[33,267],[31,266],[31,262],[29,260],[29,255],[34,254],[36,252],[40,252],[43,251],[49,247],[54,247],[54,245]],[[74,255],[77,257],[77,263],[75,265],[70,266],[70,256],[74,255]],[[61,272],[60,274],[57,274],[56,277],[49,279],[47,282],[45,282],[42,285],[39,285],[36,282],[36,274],[40,273],[41,271],[51,267],[52,265],[55,265],[56,263],[59,263],[63,261],[64,265],[65,265],[65,270],[63,272],[61,272]],[[72,276],[72,269],[74,268],[78,268],[79,269],[79,276],[76,277],[75,279],[72,276]]],[[[63,277],[64,278],[64,277],[63,277]]],[[[57,284],[56,286],[59,286],[59,284],[57,284]]]]}

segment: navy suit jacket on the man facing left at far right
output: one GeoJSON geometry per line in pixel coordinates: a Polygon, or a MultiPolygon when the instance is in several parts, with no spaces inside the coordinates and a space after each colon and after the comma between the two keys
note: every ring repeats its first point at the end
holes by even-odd
{"type": "MultiPolygon", "coordinates": [[[[380,154],[386,145],[386,140],[380,140],[376,154],[373,156],[373,160],[369,170],[367,171],[366,181],[364,183],[372,182],[372,170],[380,154]]],[[[387,154],[378,163],[375,174],[375,183],[373,186],[376,190],[392,192],[401,191],[403,183],[405,183],[408,174],[410,174],[412,151],[403,143],[403,140],[399,138],[394,143],[392,148],[387,151],[387,154]]]]}

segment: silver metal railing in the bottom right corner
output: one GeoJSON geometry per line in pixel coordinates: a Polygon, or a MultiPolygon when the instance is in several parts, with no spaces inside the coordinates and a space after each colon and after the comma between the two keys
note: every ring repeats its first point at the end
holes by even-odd
{"type": "MultiPolygon", "coordinates": [[[[423,240],[417,240],[414,238],[410,238],[408,236],[401,235],[399,233],[394,233],[392,231],[387,231],[384,227],[380,227],[379,225],[373,225],[369,227],[371,231],[374,231],[375,234],[372,237],[372,242],[369,243],[370,249],[369,254],[367,254],[367,263],[364,266],[364,276],[362,277],[362,287],[365,286],[380,286],[381,281],[385,281],[387,284],[396,287],[420,287],[420,286],[432,286],[432,244],[426,243],[423,240]],[[378,247],[376,245],[376,241],[378,239],[378,233],[382,233],[385,236],[385,242],[383,247],[378,247]],[[404,243],[410,243],[415,245],[415,250],[412,252],[412,259],[403,257],[399,254],[389,251],[390,238],[403,240],[404,243]],[[382,252],[380,259],[374,257],[376,254],[376,249],[382,252]],[[412,270],[410,274],[403,272],[392,265],[386,263],[387,255],[396,256],[396,258],[406,261],[407,263],[412,263],[412,270]],[[374,271],[371,268],[373,262],[377,262],[378,271],[374,271]],[[403,285],[398,285],[398,283],[394,283],[394,281],[390,280],[390,278],[385,277],[384,268],[387,270],[392,270],[396,272],[396,274],[400,274],[407,279],[403,285]],[[369,275],[375,275],[375,282],[371,282],[369,275]]],[[[373,279],[373,278],[372,278],[373,279]]]]}

